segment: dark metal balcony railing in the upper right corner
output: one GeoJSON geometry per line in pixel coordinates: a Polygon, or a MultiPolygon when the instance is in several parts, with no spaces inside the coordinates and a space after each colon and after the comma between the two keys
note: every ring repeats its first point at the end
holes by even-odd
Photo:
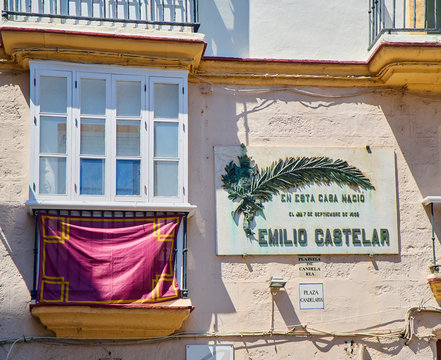
{"type": "Polygon", "coordinates": [[[441,32],[441,0],[369,0],[369,47],[384,33],[441,32]]]}

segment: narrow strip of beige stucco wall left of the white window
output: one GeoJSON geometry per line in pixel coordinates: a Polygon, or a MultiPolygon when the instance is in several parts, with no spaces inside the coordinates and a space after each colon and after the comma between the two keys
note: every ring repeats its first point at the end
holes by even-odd
{"type": "Polygon", "coordinates": [[[9,337],[39,329],[27,306],[32,286],[33,220],[24,208],[29,182],[26,73],[0,73],[0,114],[0,329],[1,337],[9,337]]]}

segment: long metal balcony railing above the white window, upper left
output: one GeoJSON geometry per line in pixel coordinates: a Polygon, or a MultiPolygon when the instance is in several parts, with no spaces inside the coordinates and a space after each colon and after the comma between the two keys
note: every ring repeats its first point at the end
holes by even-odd
{"type": "Polygon", "coordinates": [[[2,15],[199,28],[198,0],[4,0],[2,15]]]}

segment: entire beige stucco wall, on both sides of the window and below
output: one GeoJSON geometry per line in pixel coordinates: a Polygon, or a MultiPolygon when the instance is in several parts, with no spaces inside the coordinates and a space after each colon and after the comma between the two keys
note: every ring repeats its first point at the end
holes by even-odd
{"type": "MultiPolygon", "coordinates": [[[[28,310],[32,284],[33,219],[25,210],[29,166],[29,78],[0,74],[0,338],[49,335],[28,310]]],[[[326,332],[400,329],[410,306],[438,305],[426,277],[431,264],[430,221],[421,199],[439,195],[441,102],[430,95],[372,89],[262,89],[190,84],[189,294],[195,306],[183,330],[220,334],[268,331],[268,280],[282,275],[274,297],[274,327],[309,324],[326,332]],[[305,94],[304,92],[307,92],[305,94]],[[390,146],[396,152],[400,253],[322,256],[325,310],[299,310],[297,256],[215,255],[215,145],[390,146]]],[[[441,208],[436,208],[441,234],[441,208]]],[[[438,243],[438,241],[437,241],[438,243]]],[[[441,251],[441,246],[437,248],[441,251]]],[[[419,334],[441,320],[419,315],[419,334]]],[[[234,344],[236,360],[360,358],[433,359],[435,343],[414,339],[232,336],[154,344],[53,346],[17,344],[10,359],[185,359],[186,344],[234,344]],[[345,341],[354,341],[354,353],[345,341]],[[107,353],[106,353],[107,351],[107,353]]],[[[0,346],[5,358],[8,345],[0,346]]]]}

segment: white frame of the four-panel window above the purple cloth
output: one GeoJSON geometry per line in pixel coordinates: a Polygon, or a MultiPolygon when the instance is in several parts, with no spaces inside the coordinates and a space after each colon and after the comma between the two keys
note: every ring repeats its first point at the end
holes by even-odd
{"type": "MultiPolygon", "coordinates": [[[[30,199],[28,205],[100,205],[103,208],[157,207],[164,210],[180,210],[188,204],[188,100],[186,70],[138,69],[120,66],[86,65],[52,61],[30,61],[31,80],[31,156],[30,199]],[[66,125],[66,194],[39,194],[39,137],[40,137],[40,76],[67,77],[68,109],[66,125]],[[105,193],[80,194],[80,79],[106,79],[106,166],[105,193]],[[141,81],[140,126],[140,195],[116,195],[116,81],[141,81]],[[171,83],[179,86],[179,116],[171,121],[178,123],[178,195],[154,195],[154,115],[153,86],[155,83],[171,83]],[[76,85],[75,85],[76,84],[76,85]],[[145,87],[144,87],[145,85],[145,87]]],[[[34,206],[37,207],[37,206],[34,206]]],[[[70,206],[70,208],[74,208],[70,206]]]]}

